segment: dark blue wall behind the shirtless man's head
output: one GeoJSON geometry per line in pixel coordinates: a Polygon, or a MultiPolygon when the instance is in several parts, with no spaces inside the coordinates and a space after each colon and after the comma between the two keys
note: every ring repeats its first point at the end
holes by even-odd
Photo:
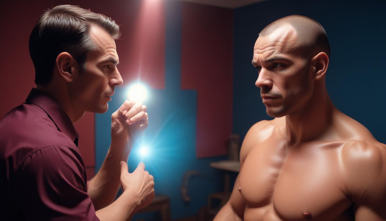
{"type": "Polygon", "coordinates": [[[269,0],[234,10],[233,132],[244,137],[256,122],[271,119],[254,83],[256,38],[267,24],[299,14],[325,28],[331,46],[326,84],[335,106],[386,143],[385,1],[269,0]]]}

